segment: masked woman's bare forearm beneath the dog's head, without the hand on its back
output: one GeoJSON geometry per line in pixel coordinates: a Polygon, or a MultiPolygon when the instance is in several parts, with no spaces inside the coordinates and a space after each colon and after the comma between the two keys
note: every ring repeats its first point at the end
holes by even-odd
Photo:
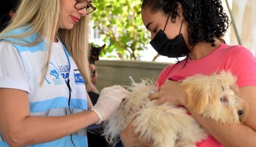
{"type": "Polygon", "coordinates": [[[247,125],[224,125],[201,115],[192,113],[192,116],[225,147],[256,147],[256,132],[247,125]]]}

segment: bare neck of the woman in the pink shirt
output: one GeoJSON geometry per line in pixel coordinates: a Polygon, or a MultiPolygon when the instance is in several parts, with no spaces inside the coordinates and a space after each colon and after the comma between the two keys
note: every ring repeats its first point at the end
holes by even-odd
{"type": "Polygon", "coordinates": [[[211,43],[198,43],[194,46],[192,51],[189,53],[189,58],[191,60],[198,60],[204,58],[206,55],[216,50],[221,44],[223,44],[219,39],[215,39],[215,46],[211,46],[211,43]]]}

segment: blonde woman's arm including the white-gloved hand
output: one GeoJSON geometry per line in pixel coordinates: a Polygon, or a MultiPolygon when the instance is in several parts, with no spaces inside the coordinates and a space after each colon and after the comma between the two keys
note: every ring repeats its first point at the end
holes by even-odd
{"type": "Polygon", "coordinates": [[[56,140],[106,120],[127,94],[128,91],[119,85],[103,88],[97,103],[88,111],[43,117],[30,116],[30,105],[25,91],[0,88],[0,132],[11,147],[56,140]]]}

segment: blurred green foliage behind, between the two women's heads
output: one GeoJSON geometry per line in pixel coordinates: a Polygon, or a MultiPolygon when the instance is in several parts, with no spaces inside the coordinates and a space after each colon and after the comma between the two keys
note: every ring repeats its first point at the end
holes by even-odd
{"type": "Polygon", "coordinates": [[[139,59],[139,51],[147,49],[149,33],[141,20],[142,0],[93,0],[97,10],[93,13],[94,28],[108,44],[103,55],[120,59],[139,59]]]}

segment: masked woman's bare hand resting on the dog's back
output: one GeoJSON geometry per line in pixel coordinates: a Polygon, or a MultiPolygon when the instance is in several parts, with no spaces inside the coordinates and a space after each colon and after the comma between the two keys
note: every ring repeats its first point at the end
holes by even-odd
{"type": "Polygon", "coordinates": [[[158,105],[169,102],[186,107],[187,97],[182,93],[179,84],[180,82],[177,81],[165,81],[159,92],[149,96],[150,100],[158,99],[156,102],[158,105]]]}

